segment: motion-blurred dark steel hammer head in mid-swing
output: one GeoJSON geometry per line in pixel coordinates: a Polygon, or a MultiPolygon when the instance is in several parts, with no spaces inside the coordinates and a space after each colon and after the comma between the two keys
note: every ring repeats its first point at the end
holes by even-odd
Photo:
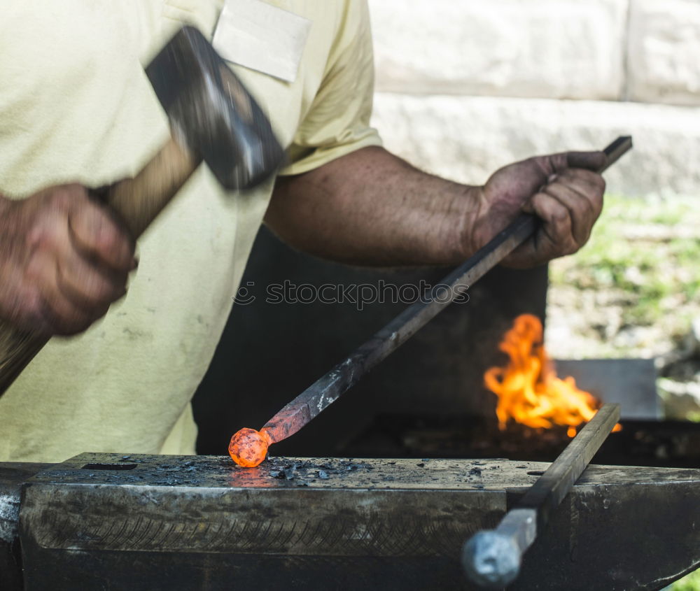
{"type": "Polygon", "coordinates": [[[265,113],[200,31],[181,29],[146,74],[176,140],[224,187],[253,187],[279,168],[284,152],[265,113]]]}

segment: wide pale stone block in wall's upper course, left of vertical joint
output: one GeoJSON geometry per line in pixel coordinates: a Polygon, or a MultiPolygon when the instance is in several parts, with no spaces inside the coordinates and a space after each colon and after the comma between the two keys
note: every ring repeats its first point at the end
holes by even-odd
{"type": "Polygon", "coordinates": [[[377,89],[622,97],[627,1],[370,0],[377,89]]]}

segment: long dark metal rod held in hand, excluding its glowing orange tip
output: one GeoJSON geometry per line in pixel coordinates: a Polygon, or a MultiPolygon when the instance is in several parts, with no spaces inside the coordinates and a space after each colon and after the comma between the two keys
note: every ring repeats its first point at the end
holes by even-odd
{"type": "MultiPolygon", "coordinates": [[[[608,145],[603,150],[607,159],[599,172],[602,173],[610,164],[617,162],[631,147],[632,138],[629,136],[619,137],[608,145]]],[[[519,215],[503,232],[445,277],[440,290],[424,301],[406,308],[347,359],[282,408],[263,427],[270,443],[286,439],[307,425],[444,308],[464,297],[470,285],[474,285],[535,232],[537,223],[538,220],[533,215],[519,215]]]]}

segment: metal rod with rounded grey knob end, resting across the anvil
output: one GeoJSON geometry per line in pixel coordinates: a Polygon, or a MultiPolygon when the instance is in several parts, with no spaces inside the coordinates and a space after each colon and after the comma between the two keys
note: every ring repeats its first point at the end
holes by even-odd
{"type": "Polygon", "coordinates": [[[524,553],[573,487],[619,420],[619,404],[603,404],[547,471],[505,514],[496,529],[477,532],[462,550],[462,564],[473,583],[502,589],[518,576],[524,553]]]}

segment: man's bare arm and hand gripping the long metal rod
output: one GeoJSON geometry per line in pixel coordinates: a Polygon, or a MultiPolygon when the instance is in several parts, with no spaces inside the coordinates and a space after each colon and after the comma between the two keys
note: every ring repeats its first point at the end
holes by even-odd
{"type": "Polygon", "coordinates": [[[536,232],[504,260],[528,267],[570,255],[603,207],[603,152],[561,152],[503,166],[483,186],[458,185],[365,148],[278,180],[265,220],[312,254],[367,265],[456,264],[521,211],[536,232]]]}

